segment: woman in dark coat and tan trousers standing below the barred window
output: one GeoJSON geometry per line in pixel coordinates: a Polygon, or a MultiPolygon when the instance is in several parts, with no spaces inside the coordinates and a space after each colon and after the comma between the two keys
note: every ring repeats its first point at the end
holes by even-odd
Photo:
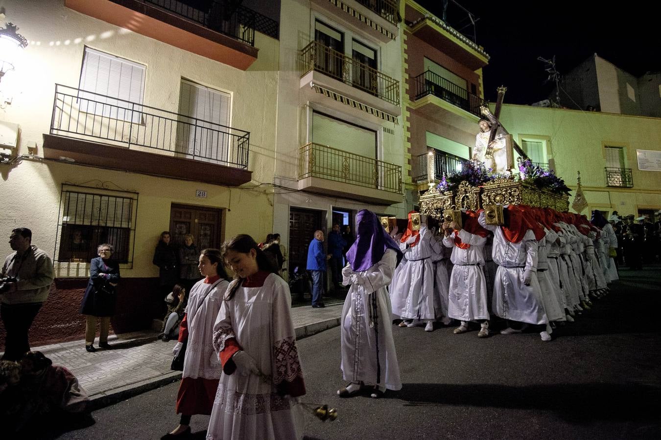
{"type": "Polygon", "coordinates": [[[97,333],[97,318],[101,322],[98,346],[110,348],[110,317],[115,313],[115,286],[120,281],[120,265],[111,259],[113,250],[111,244],[103,243],[97,249],[99,256],[93,258],[89,265],[89,283],[81,304],[81,314],[85,315],[85,350],[88,352],[97,351],[93,345],[97,333]]]}

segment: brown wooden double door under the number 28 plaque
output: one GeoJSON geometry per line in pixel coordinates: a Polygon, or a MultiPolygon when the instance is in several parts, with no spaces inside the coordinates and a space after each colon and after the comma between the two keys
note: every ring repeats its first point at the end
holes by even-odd
{"type": "Polygon", "coordinates": [[[170,235],[177,245],[184,243],[184,236],[192,234],[200,251],[208,247],[218,249],[222,238],[222,210],[173,204],[170,209],[170,235]]]}

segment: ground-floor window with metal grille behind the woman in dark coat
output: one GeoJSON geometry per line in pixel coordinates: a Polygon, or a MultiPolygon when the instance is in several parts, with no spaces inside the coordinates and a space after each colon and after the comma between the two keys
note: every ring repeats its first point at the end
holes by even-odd
{"type": "Polygon", "coordinates": [[[113,194],[63,189],[56,261],[89,263],[97,257],[97,247],[110,243],[112,258],[133,262],[136,231],[137,193],[113,194]]]}

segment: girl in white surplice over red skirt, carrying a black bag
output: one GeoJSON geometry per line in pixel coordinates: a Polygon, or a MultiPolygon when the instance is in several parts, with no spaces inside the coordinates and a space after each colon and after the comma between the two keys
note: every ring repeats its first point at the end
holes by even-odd
{"type": "Polygon", "coordinates": [[[198,268],[206,278],[190,290],[179,327],[179,342],[173,349],[176,356],[187,339],[184,371],[176,397],[176,412],[181,418],[179,425],[161,439],[186,437],[190,434],[192,415],[211,414],[221,375],[221,365],[212,344],[212,326],[229,286],[220,251],[204,249],[198,268]]]}

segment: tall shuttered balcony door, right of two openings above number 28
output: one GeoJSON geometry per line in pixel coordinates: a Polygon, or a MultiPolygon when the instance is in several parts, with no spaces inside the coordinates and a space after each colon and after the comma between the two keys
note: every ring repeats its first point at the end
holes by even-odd
{"type": "Polygon", "coordinates": [[[176,151],[207,162],[227,162],[231,95],[181,80],[176,151]]]}

